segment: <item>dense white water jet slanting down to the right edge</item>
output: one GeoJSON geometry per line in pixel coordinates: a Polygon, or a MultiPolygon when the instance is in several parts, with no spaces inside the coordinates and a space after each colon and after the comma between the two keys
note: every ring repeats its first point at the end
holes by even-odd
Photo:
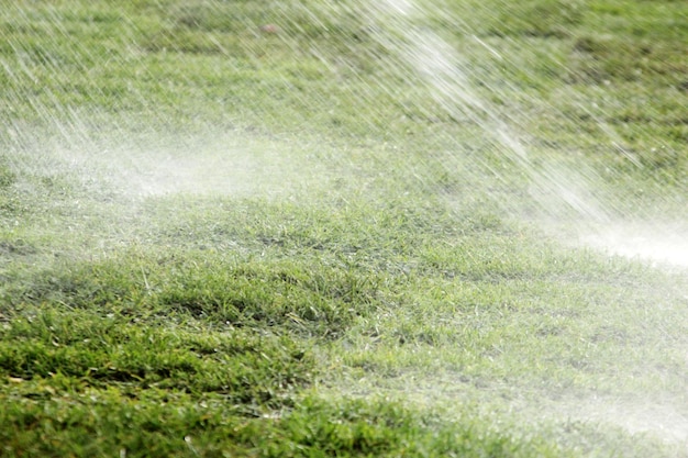
{"type": "MultiPolygon", "coordinates": [[[[452,119],[468,120],[491,138],[503,160],[513,164],[530,182],[530,194],[540,215],[541,225],[555,238],[561,227],[572,227],[578,243],[608,254],[647,259],[658,264],[688,266],[687,233],[673,231],[667,225],[631,225],[623,214],[614,211],[614,203],[602,199],[604,180],[591,167],[577,164],[577,170],[554,158],[539,158],[537,164],[528,152],[529,135],[519,129],[519,120],[480,97],[470,81],[470,67],[437,33],[414,25],[425,12],[411,0],[386,0],[368,5],[379,23],[376,40],[413,69],[425,83],[436,102],[452,119]],[[393,36],[386,32],[391,24],[393,36]],[[401,40],[398,40],[398,35],[401,40]],[[525,138],[525,139],[523,139],[525,138]],[[554,228],[554,231],[550,231],[554,228]]],[[[460,20],[453,23],[466,27],[460,20]]],[[[464,31],[465,36],[489,51],[497,60],[503,57],[484,41],[464,31]]],[[[556,110],[556,108],[554,108],[556,110]]],[[[586,110],[593,118],[593,113],[586,110]]],[[[636,167],[640,161],[621,145],[613,129],[598,120],[600,130],[613,148],[620,150],[636,167]]],[[[514,214],[509,202],[501,203],[504,214],[514,214]]],[[[570,232],[567,234],[570,235],[570,232]]]]}

